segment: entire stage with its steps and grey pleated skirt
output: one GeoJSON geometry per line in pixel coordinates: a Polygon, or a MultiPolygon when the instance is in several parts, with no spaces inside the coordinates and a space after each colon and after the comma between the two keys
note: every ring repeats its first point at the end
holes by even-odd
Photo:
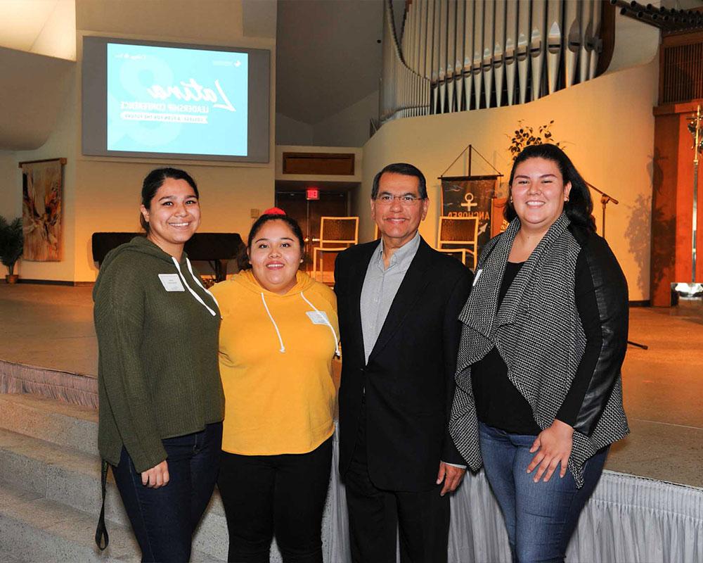
{"type": "MultiPolygon", "coordinates": [[[[91,288],[0,284],[0,318],[0,561],[137,561],[112,479],[110,547],[98,552],[92,539],[101,495],[91,288]]],[[[612,448],[567,562],[703,561],[702,309],[633,308],[630,327],[649,346],[629,348],[624,365],[632,434],[612,448]]],[[[451,505],[451,563],[510,560],[483,472],[466,476],[451,505]]],[[[322,533],[325,563],[349,562],[336,433],[322,533]]],[[[226,545],[216,491],[193,561],[223,561],[226,545]]],[[[280,562],[275,547],[271,560],[280,562]]]]}

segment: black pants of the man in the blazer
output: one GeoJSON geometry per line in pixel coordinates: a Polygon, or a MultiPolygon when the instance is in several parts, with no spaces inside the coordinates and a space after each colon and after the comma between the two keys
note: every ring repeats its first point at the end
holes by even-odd
{"type": "Polygon", "coordinates": [[[439,495],[441,485],[421,493],[384,491],[371,482],[366,460],[364,405],[354,455],[344,476],[352,561],[395,563],[399,531],[402,563],[446,562],[449,495],[439,495]]]}

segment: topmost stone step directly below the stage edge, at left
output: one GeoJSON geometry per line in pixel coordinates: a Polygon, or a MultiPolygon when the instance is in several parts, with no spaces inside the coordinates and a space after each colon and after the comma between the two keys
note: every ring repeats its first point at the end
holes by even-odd
{"type": "Polygon", "coordinates": [[[0,395],[0,428],[84,453],[98,452],[98,412],[89,407],[34,395],[0,395]]]}

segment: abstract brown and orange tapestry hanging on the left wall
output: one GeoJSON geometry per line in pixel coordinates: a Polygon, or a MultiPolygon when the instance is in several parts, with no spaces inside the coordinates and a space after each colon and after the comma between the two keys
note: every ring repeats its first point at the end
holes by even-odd
{"type": "Polygon", "coordinates": [[[61,205],[65,159],[21,163],[23,260],[61,260],[61,205]]]}

